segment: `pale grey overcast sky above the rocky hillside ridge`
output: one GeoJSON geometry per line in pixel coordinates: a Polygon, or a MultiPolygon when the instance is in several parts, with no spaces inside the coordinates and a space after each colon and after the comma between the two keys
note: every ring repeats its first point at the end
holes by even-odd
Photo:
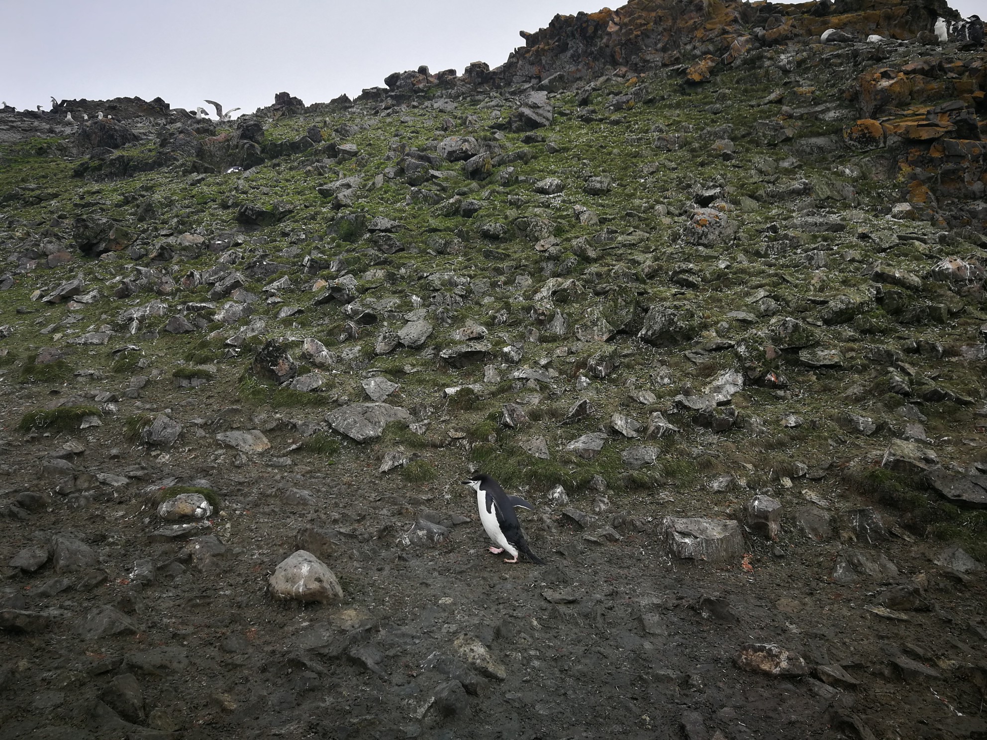
{"type": "MultiPolygon", "coordinates": [[[[984,0],[952,0],[963,15],[984,0]]],[[[0,100],[160,96],[254,111],[287,91],[305,103],[383,85],[427,64],[492,67],[557,13],[606,0],[0,0],[0,100]]],[[[620,6],[620,1],[611,2],[620,6]]],[[[987,14],[985,14],[987,15],[987,14]]],[[[206,106],[206,108],[208,108],[206,106]]],[[[211,110],[210,110],[211,112],[211,110]]]]}

